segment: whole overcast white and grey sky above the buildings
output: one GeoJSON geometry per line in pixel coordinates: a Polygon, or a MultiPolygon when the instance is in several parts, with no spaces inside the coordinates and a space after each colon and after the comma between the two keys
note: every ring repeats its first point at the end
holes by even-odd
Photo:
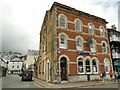
{"type": "Polygon", "coordinates": [[[39,50],[40,30],[46,10],[59,2],[106,19],[118,28],[119,0],[0,0],[0,51],[26,54],[39,50]]]}

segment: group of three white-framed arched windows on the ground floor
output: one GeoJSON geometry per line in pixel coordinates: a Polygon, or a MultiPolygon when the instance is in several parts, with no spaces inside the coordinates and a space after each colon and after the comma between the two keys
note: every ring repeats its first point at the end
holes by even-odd
{"type": "Polygon", "coordinates": [[[97,74],[98,73],[98,59],[96,57],[84,59],[80,57],[77,59],[78,74],[97,74]]]}

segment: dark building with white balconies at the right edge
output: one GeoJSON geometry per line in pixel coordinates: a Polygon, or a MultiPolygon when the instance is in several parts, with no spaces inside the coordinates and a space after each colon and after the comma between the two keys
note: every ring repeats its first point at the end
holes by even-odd
{"type": "Polygon", "coordinates": [[[120,72],[120,68],[118,68],[118,66],[120,67],[120,32],[116,30],[115,25],[113,25],[111,29],[107,30],[110,42],[113,70],[120,72]]]}

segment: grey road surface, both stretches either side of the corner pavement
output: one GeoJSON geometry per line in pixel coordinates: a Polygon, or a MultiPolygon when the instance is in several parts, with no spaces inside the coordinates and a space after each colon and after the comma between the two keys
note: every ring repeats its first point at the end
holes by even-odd
{"type": "MultiPolygon", "coordinates": [[[[34,81],[21,81],[21,77],[18,75],[8,75],[2,77],[2,88],[43,88],[42,86],[36,84],[34,81]]],[[[85,86],[76,88],[118,88],[118,84],[106,83],[104,85],[97,86],[85,86]]]]}

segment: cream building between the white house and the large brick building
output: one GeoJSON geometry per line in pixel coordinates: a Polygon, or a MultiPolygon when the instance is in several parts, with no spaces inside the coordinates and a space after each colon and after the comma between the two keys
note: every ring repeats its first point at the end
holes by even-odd
{"type": "Polygon", "coordinates": [[[34,71],[34,63],[38,58],[38,50],[28,50],[27,58],[25,61],[25,68],[26,69],[33,69],[34,71]]]}

